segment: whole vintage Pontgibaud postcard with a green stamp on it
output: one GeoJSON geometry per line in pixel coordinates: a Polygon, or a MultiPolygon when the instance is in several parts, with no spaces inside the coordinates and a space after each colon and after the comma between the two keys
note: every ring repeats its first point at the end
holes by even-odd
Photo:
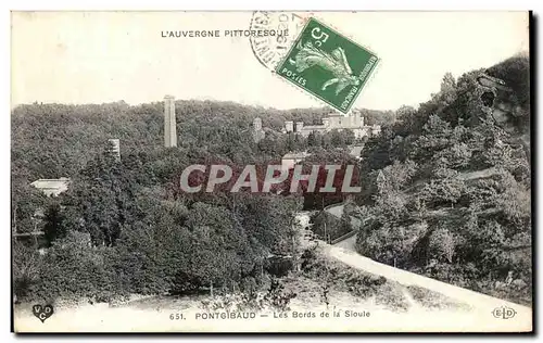
{"type": "Polygon", "coordinates": [[[12,12],[14,332],[532,332],[530,12],[12,12]]]}

